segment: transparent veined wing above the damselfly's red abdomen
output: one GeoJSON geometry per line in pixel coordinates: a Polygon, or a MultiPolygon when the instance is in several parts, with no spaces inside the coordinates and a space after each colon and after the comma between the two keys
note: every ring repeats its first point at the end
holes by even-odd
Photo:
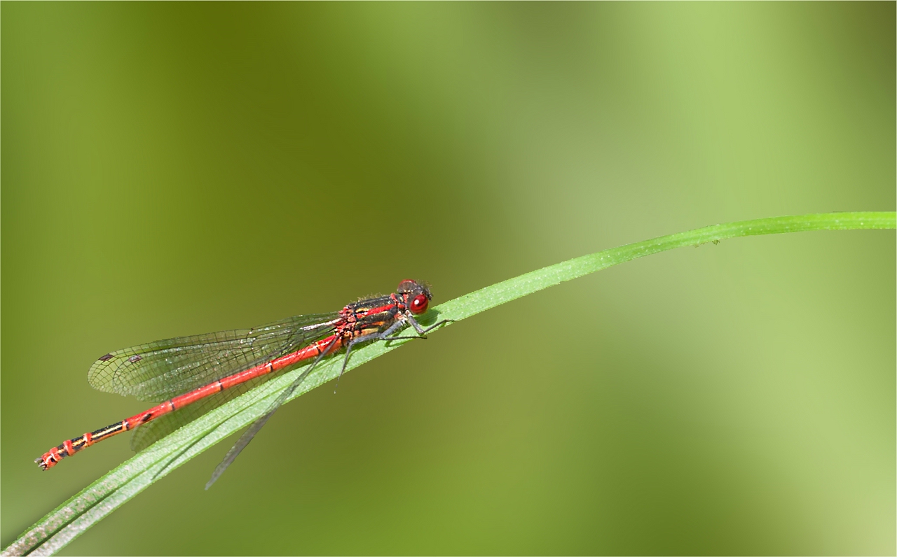
{"type": "Polygon", "coordinates": [[[97,390],[134,395],[140,400],[167,400],[324,338],[333,332],[332,321],[337,316],[297,315],[255,329],[223,330],[123,348],[94,362],[87,380],[97,390]]]}

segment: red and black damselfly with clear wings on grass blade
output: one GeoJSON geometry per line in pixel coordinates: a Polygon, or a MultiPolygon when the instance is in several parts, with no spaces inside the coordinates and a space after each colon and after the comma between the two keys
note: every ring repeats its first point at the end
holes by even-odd
{"type": "Polygon", "coordinates": [[[94,389],[164,402],[95,432],[64,441],[35,462],[47,470],[62,458],[130,430],[135,430],[132,449],[142,450],[213,407],[266,381],[271,373],[313,359],[308,369],[228,451],[205,485],[208,489],[325,356],[345,348],[342,376],[354,346],[376,340],[426,338],[427,332],[450,321],[439,321],[424,329],[414,319],[414,315],[427,311],[431,297],[425,284],[403,280],[395,294],[361,299],[335,313],[297,315],[255,329],[169,338],[110,352],[91,365],[87,373],[94,389]],[[396,336],[408,325],[417,336],[396,336]]]}

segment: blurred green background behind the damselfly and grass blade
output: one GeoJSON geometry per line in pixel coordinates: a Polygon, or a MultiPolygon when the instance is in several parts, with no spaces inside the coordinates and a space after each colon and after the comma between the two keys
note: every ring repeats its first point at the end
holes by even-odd
{"type": "MultiPolygon", "coordinates": [[[[2,543],[129,458],[119,347],[895,208],[895,4],[2,4],[2,543]]],[[[893,232],[554,287],[64,554],[895,552],[893,232]]],[[[232,441],[232,440],[228,440],[232,441]]]]}

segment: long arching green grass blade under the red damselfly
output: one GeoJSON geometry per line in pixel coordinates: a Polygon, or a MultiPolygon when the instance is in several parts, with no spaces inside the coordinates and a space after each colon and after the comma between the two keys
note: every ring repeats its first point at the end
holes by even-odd
{"type": "MultiPolygon", "coordinates": [[[[897,213],[893,211],[822,213],[745,220],[698,228],[680,234],[660,236],[645,242],[623,245],[534,270],[440,304],[433,308],[427,315],[428,319],[422,322],[426,324],[437,318],[460,321],[497,305],[560,284],[565,280],[577,279],[624,261],[631,261],[651,253],[665,252],[677,247],[706,244],[739,236],[783,234],[809,230],[885,228],[897,228],[897,213]]],[[[405,342],[407,341],[398,340],[390,343],[390,346],[378,343],[363,347],[353,353],[353,359],[347,370],[386,354],[405,342]]],[[[309,378],[293,393],[291,399],[335,379],[341,364],[340,358],[331,358],[319,365],[315,372],[311,373],[309,378]]],[[[46,517],[41,518],[19,539],[4,549],[3,554],[50,555],[56,553],[156,480],[167,476],[190,458],[264,414],[272,401],[292,383],[302,369],[303,367],[300,367],[284,373],[257,389],[251,390],[239,398],[234,398],[222,407],[214,409],[209,414],[141,451],[134,458],[130,458],[106,476],[89,485],[81,493],[65,501],[56,510],[48,513],[46,517]]]]}

